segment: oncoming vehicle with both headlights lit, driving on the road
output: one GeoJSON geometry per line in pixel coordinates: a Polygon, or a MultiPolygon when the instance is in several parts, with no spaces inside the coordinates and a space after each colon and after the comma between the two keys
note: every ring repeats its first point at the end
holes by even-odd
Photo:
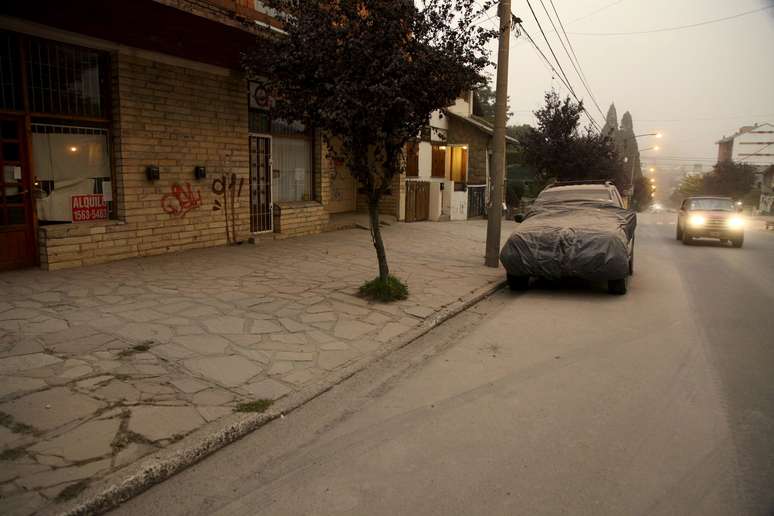
{"type": "Polygon", "coordinates": [[[744,243],[745,221],[729,197],[689,197],[677,214],[678,240],[690,244],[694,238],[717,238],[734,247],[744,243]]]}

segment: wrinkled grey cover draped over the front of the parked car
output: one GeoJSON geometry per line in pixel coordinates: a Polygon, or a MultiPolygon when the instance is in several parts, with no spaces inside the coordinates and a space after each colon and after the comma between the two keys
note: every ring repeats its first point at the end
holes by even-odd
{"type": "Polygon", "coordinates": [[[634,211],[599,201],[536,202],[500,251],[508,274],[591,281],[629,274],[634,211]]]}

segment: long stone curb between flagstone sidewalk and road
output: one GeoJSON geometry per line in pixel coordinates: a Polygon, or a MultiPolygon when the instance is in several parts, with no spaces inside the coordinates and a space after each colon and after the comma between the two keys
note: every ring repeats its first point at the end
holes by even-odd
{"type": "Polygon", "coordinates": [[[324,394],[370,364],[411,344],[433,328],[489,297],[504,285],[505,282],[495,282],[481,287],[442,308],[413,330],[388,341],[374,353],[361,357],[341,370],[334,371],[331,375],[280,399],[266,412],[249,415],[233,414],[205,425],[179,443],[108,475],[99,483],[87,488],[74,502],[70,502],[69,506],[48,507],[42,514],[82,516],[105,513],[263,425],[285,417],[286,414],[324,394]]]}

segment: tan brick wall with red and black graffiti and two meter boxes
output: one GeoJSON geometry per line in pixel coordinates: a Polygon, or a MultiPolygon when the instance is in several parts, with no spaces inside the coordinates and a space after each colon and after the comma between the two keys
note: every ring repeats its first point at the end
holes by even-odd
{"type": "Polygon", "coordinates": [[[118,220],[42,226],[41,266],[59,269],[247,240],[244,79],[118,52],[111,61],[118,220]],[[146,179],[149,165],[158,166],[158,181],[146,179]],[[194,179],[195,166],[206,167],[206,179],[194,179]],[[220,193],[223,177],[226,195],[220,193]]]}

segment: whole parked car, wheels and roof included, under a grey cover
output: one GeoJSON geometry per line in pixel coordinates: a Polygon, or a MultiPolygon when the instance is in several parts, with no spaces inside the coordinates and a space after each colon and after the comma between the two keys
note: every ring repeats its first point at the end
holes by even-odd
{"type": "Polygon", "coordinates": [[[543,190],[500,251],[512,290],[532,277],[607,281],[625,294],[634,272],[637,215],[612,183],[555,183],[543,190]]]}

